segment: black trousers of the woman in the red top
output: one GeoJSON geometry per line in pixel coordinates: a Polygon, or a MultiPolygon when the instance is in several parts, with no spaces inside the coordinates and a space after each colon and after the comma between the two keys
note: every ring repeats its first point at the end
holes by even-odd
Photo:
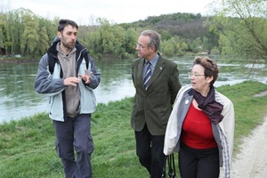
{"type": "Polygon", "coordinates": [[[181,143],[179,169],[182,178],[218,178],[218,148],[198,150],[181,143]]]}

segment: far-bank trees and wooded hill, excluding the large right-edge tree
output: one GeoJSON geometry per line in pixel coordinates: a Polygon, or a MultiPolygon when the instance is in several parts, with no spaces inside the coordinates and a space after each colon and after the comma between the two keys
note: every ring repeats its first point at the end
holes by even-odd
{"type": "MultiPolygon", "coordinates": [[[[40,56],[56,35],[58,18],[47,20],[28,9],[20,8],[0,14],[0,46],[2,54],[40,56]]],[[[198,52],[197,37],[206,33],[205,18],[200,14],[175,13],[148,17],[134,23],[111,24],[97,18],[93,25],[79,26],[78,40],[98,58],[127,58],[135,53],[136,40],[144,29],[153,28],[162,34],[161,52],[167,56],[198,52]],[[194,29],[201,31],[194,32],[194,29]],[[197,38],[197,39],[196,39],[197,38]]]]}

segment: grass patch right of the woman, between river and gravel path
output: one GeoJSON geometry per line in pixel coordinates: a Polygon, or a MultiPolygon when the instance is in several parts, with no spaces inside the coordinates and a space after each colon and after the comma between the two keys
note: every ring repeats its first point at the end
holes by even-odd
{"type": "Polygon", "coordinates": [[[267,116],[267,95],[255,97],[256,93],[267,90],[267,85],[255,81],[246,81],[239,85],[223,85],[217,89],[234,104],[235,109],[235,141],[234,153],[239,151],[242,138],[247,137],[257,125],[263,123],[267,116]]]}

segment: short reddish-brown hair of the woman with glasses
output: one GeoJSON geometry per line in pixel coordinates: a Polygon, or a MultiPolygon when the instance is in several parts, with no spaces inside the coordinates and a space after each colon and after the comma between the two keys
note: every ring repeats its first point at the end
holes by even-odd
{"type": "Polygon", "coordinates": [[[216,62],[209,57],[200,57],[197,56],[195,58],[195,61],[193,62],[193,65],[199,64],[204,68],[204,75],[205,77],[214,77],[214,79],[211,81],[210,85],[214,85],[214,82],[218,78],[219,69],[216,64],[216,62]]]}

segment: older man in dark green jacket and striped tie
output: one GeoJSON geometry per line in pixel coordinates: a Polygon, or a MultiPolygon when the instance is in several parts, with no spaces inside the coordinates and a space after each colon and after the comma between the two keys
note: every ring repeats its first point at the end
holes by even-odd
{"type": "Polygon", "coordinates": [[[132,63],[135,95],[131,126],[136,154],[153,178],[162,174],[166,124],[181,88],[177,65],[158,53],[159,44],[158,32],[142,31],[136,46],[140,58],[132,63]]]}

